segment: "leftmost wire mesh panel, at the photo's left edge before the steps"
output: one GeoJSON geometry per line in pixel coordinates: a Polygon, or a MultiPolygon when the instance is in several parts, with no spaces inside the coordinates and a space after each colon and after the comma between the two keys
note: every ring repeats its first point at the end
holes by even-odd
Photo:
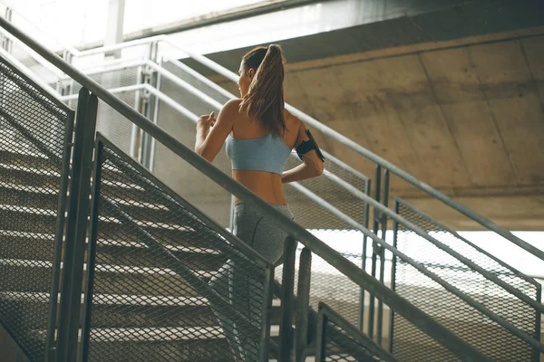
{"type": "Polygon", "coordinates": [[[42,361],[73,113],[3,60],[0,103],[0,322],[31,360],[42,361]]]}

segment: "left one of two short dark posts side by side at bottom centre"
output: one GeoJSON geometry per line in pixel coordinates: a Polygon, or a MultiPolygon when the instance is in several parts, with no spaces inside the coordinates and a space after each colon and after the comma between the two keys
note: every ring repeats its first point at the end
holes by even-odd
{"type": "Polygon", "coordinates": [[[287,362],[291,356],[293,318],[293,289],[295,287],[296,240],[286,238],[282,274],[281,319],[279,321],[279,362],[287,362]]]}

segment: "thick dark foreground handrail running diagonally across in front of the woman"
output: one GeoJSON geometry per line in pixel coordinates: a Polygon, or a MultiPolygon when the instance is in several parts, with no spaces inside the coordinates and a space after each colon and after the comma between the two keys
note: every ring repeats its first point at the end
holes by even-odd
{"type": "MultiPolygon", "coordinates": [[[[346,260],[339,252],[336,252],[333,248],[320,241],[316,236],[306,231],[306,229],[296,224],[286,215],[279,213],[274,207],[268,205],[267,202],[251,192],[247,187],[242,186],[232,177],[220,171],[219,168],[214,167],[205,158],[200,157],[192,149],[180,143],[179,140],[173,138],[164,129],[151,122],[150,119],[145,118],[138,111],[132,109],[128,104],[114,96],[110,91],[104,89],[96,81],[92,81],[83,72],[78,71],[71,64],[64,62],[57,54],[47,50],[40,43],[35,42],[34,39],[18,30],[13,24],[9,24],[5,19],[0,18],[0,26],[13,33],[27,46],[32,48],[34,52],[38,52],[48,62],[51,62],[54,66],[70,75],[74,81],[78,81],[83,87],[91,90],[98,98],[110,105],[112,109],[117,110],[122,116],[149,133],[151,137],[159,140],[164,146],[185,159],[191,166],[199,169],[202,174],[208,176],[219,186],[225,188],[229,193],[237,195],[240,199],[255,205],[257,211],[273,220],[283,231],[306,245],[312,252],[315,252],[316,255],[331,264],[337,271],[343,273],[350,280],[390,305],[399,315],[410,320],[416,327],[422,329],[444,347],[450,349],[456,355],[465,358],[467,361],[491,361],[491,358],[482,355],[480,351],[471,347],[470,344],[448,329],[445,329],[440,323],[423,313],[422,310],[419,310],[407,300],[398,296],[394,291],[386,288],[380,281],[375,280],[354,263],[346,260]]],[[[379,240],[374,233],[369,233],[367,236],[379,240]]],[[[541,350],[544,351],[544,347],[541,350]]]]}

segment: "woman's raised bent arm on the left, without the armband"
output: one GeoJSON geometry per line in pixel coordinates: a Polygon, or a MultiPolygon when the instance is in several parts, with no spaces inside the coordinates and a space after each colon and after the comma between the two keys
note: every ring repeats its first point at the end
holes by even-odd
{"type": "Polygon", "coordinates": [[[238,103],[239,100],[228,100],[219,111],[217,120],[212,112],[209,116],[200,116],[197,122],[195,152],[209,162],[213,162],[214,158],[218,156],[219,149],[232,130],[234,119],[238,113],[238,103]]]}

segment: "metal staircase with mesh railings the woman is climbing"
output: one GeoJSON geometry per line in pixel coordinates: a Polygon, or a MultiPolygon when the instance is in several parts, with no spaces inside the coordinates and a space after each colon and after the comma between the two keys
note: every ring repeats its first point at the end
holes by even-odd
{"type": "MultiPolygon", "coordinates": [[[[0,24],[5,36],[40,54],[34,68],[63,73],[56,88],[61,95],[48,85],[55,83],[51,78],[33,75],[24,65],[29,62],[1,54],[0,321],[30,360],[232,361],[214,313],[221,310],[240,338],[258,344],[252,360],[539,361],[539,283],[401,199],[389,209],[389,179],[394,174],[411,182],[544,261],[541,251],[292,108],[378,168],[372,196],[369,177],[327,154],[325,176],[286,188],[297,224],[290,222],[156,126],[163,103],[196,119],[173,99],[174,90],[216,108],[221,103],[213,97],[229,98],[228,91],[177,59],[162,66],[156,53],[144,62],[129,60],[135,66],[121,59],[78,71],[5,20],[0,24]],[[137,84],[120,88],[122,72],[132,68],[148,79],[132,77],[137,84]],[[178,88],[162,91],[160,80],[178,88]],[[134,98],[135,92],[144,97],[134,98]],[[63,104],[74,107],[74,100],[75,128],[73,110],[63,104]],[[121,122],[122,137],[106,119],[121,122]],[[95,129],[102,133],[89,137],[95,129]],[[228,196],[253,202],[291,235],[276,281],[271,265],[153,175],[157,144],[228,196]],[[393,241],[385,238],[388,221],[393,241]],[[362,252],[342,255],[306,229],[345,230],[338,238],[356,231],[362,252]],[[242,298],[210,284],[226,262],[262,292],[242,298]],[[264,311],[259,326],[239,313],[237,298],[264,311]]],[[[112,48],[156,50],[166,42],[160,37],[112,48]]]]}

